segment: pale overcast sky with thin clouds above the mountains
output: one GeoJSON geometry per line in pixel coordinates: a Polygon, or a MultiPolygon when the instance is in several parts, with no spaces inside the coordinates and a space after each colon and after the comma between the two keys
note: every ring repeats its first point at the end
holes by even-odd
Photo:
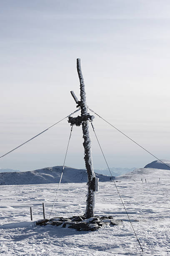
{"type": "MultiPolygon", "coordinates": [[[[170,159],[169,0],[1,0],[0,155],[75,111],[80,58],[87,105],[160,159],[170,159]]],[[[100,118],[110,167],[155,159],[100,118]]],[[[67,120],[0,159],[30,171],[62,165],[67,120]]],[[[107,166],[90,127],[94,169],[107,166]]],[[[85,168],[81,127],[65,165],[85,168]]]]}

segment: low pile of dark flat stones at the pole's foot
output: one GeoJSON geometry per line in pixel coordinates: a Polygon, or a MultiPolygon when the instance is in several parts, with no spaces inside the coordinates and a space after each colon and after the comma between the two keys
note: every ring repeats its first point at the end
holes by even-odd
{"type": "Polygon", "coordinates": [[[51,219],[37,220],[36,225],[53,225],[61,226],[62,228],[75,228],[78,231],[94,231],[102,227],[120,225],[121,220],[115,220],[112,216],[95,216],[85,219],[84,216],[72,216],[70,218],[55,217],[51,219]]]}

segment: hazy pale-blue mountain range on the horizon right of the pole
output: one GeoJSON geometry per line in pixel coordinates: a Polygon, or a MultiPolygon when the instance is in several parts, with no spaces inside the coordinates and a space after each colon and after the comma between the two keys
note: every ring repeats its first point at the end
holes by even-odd
{"type": "MultiPolygon", "coordinates": [[[[111,167],[110,168],[110,172],[112,174],[112,176],[119,176],[121,174],[124,173],[128,173],[128,172],[132,172],[133,170],[135,170],[136,168],[115,168],[115,167],[111,167]]],[[[97,173],[103,174],[103,175],[107,175],[110,176],[110,172],[108,169],[95,169],[94,170],[97,173]]]]}

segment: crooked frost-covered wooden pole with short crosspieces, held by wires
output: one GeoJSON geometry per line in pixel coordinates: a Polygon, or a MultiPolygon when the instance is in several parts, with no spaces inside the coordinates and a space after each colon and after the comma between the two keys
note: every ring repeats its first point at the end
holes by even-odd
{"type": "Polygon", "coordinates": [[[93,165],[92,165],[91,141],[90,141],[88,123],[89,123],[89,120],[92,121],[94,116],[90,116],[90,114],[87,113],[85,84],[82,76],[80,59],[77,59],[77,72],[78,72],[78,77],[80,79],[80,101],[77,101],[77,97],[74,95],[74,92],[71,92],[71,93],[75,102],[81,108],[81,116],[78,116],[77,118],[69,117],[69,123],[75,124],[77,126],[79,126],[80,124],[82,125],[82,133],[83,133],[83,139],[84,139],[83,146],[85,150],[84,159],[85,159],[85,166],[87,169],[87,176],[88,176],[88,181],[87,181],[88,190],[87,190],[85,217],[91,218],[94,216],[94,207],[95,207],[95,173],[93,171],[93,165]]]}

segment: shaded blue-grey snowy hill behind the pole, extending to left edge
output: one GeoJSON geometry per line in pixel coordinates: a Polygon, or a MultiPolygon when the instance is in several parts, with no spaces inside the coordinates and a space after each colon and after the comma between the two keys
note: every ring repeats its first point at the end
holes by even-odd
{"type": "MultiPolygon", "coordinates": [[[[62,173],[62,166],[47,167],[29,172],[3,172],[0,173],[0,185],[21,185],[21,184],[47,184],[59,183],[62,173]]],[[[110,181],[111,177],[97,174],[100,182],[110,181]]],[[[87,182],[87,172],[83,169],[65,167],[61,183],[87,182]]]]}

